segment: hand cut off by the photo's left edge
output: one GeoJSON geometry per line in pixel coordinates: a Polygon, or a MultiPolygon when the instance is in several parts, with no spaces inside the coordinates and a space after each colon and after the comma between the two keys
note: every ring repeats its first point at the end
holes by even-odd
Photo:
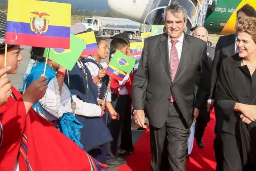
{"type": "Polygon", "coordinates": [[[12,85],[10,84],[10,79],[7,77],[2,78],[2,76],[4,76],[10,69],[11,67],[0,69],[0,106],[5,104],[12,94],[12,85]]]}

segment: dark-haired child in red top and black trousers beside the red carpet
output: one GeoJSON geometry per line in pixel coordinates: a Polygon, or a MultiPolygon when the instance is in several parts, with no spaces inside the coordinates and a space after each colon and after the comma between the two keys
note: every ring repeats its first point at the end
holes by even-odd
{"type": "MultiPolygon", "coordinates": [[[[110,57],[118,50],[125,55],[129,53],[126,39],[115,37],[110,42],[110,57]]],[[[120,120],[110,120],[108,127],[113,137],[111,148],[107,154],[108,164],[117,165],[117,153],[128,155],[133,151],[131,133],[131,84],[129,74],[122,81],[112,79],[110,83],[111,100],[115,110],[120,114],[120,120]]]]}

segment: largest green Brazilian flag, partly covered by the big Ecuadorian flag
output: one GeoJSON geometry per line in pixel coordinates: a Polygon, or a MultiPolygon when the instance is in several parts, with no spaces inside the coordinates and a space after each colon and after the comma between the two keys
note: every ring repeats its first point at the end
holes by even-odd
{"type": "Polygon", "coordinates": [[[44,56],[49,50],[50,59],[71,71],[85,46],[84,41],[70,34],[70,49],[45,48],[44,56]]]}

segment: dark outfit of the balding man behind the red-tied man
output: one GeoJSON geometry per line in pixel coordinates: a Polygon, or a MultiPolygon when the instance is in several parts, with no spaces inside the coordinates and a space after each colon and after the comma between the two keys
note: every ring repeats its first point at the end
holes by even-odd
{"type": "MultiPolygon", "coordinates": [[[[215,48],[207,46],[207,59],[208,59],[208,68],[211,70],[212,62],[214,58],[215,48]]],[[[207,126],[207,123],[210,121],[210,112],[207,111],[207,106],[205,105],[202,110],[200,110],[199,116],[196,119],[195,123],[195,138],[196,140],[201,140],[203,137],[204,129],[207,126]]]]}

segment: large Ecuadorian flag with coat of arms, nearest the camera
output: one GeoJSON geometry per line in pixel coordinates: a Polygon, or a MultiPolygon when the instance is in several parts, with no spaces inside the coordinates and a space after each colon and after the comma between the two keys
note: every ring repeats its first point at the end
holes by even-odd
{"type": "Polygon", "coordinates": [[[6,44],[69,49],[71,4],[8,0],[6,44]]]}

